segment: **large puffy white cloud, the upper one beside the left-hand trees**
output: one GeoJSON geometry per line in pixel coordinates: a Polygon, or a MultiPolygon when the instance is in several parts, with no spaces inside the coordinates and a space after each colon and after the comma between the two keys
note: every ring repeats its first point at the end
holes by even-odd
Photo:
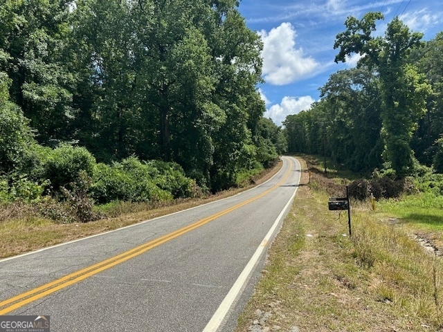
{"type": "Polygon", "coordinates": [[[290,23],[282,23],[269,33],[262,30],[264,80],[274,85],[285,85],[313,75],[318,62],[304,57],[302,48],[296,48],[296,30],[290,23]]]}

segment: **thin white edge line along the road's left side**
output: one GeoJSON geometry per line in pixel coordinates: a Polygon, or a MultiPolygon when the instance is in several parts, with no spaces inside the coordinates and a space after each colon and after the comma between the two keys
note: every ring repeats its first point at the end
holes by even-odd
{"type": "MultiPolygon", "coordinates": [[[[269,181],[271,181],[274,178],[274,176],[277,176],[277,174],[278,174],[278,172],[275,173],[271,178],[269,178],[269,180],[264,181],[264,183],[260,183],[260,185],[256,185],[255,187],[252,187],[251,189],[245,190],[244,192],[248,192],[250,190],[254,190],[255,188],[261,187],[262,185],[264,185],[264,184],[268,183],[269,181]]],[[[45,250],[49,250],[51,248],[57,248],[57,247],[61,247],[61,246],[66,246],[66,245],[71,244],[71,243],[80,242],[80,241],[87,240],[87,239],[92,239],[93,237],[101,237],[102,235],[106,235],[106,234],[113,233],[113,232],[118,232],[119,230],[125,230],[125,228],[131,228],[131,227],[136,227],[138,225],[143,225],[143,223],[147,223],[147,222],[150,222],[150,221],[155,221],[157,219],[162,219],[162,218],[165,218],[167,216],[173,216],[174,214],[179,214],[181,212],[186,212],[186,211],[189,211],[189,210],[194,210],[194,209],[197,209],[197,208],[201,208],[202,206],[213,204],[213,203],[217,203],[219,201],[224,201],[225,199],[230,199],[232,197],[241,195],[244,192],[239,192],[238,194],[235,194],[233,196],[225,197],[224,199],[217,199],[216,201],[212,201],[212,202],[204,203],[204,204],[201,204],[201,205],[197,205],[197,206],[194,206],[192,208],[188,208],[186,210],[181,210],[181,211],[177,211],[177,212],[174,212],[174,213],[171,213],[171,214],[166,214],[164,216],[157,216],[156,218],[153,218],[153,219],[148,219],[148,220],[145,220],[145,221],[140,221],[140,222],[134,223],[132,225],[127,225],[127,226],[122,227],[122,228],[117,228],[116,230],[109,230],[107,232],[103,232],[103,233],[100,233],[100,234],[90,235],[89,237],[82,237],[81,239],[76,239],[76,240],[69,241],[69,242],[59,243],[59,244],[56,244],[55,246],[50,246],[50,247],[46,247],[46,248],[42,248],[42,249],[37,249],[37,250],[34,250],[34,251],[30,251],[30,252],[25,252],[24,254],[21,254],[21,255],[15,255],[15,256],[11,256],[11,257],[6,257],[6,258],[3,258],[3,259],[0,259],[0,263],[2,263],[3,261],[10,261],[12,259],[16,259],[16,258],[28,256],[28,255],[37,254],[37,252],[42,252],[42,251],[45,251],[45,250]]]]}

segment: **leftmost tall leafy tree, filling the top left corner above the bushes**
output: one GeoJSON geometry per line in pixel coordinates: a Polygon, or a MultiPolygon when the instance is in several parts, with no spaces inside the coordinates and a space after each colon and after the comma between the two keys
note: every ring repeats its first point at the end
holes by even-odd
{"type": "Polygon", "coordinates": [[[64,59],[69,3],[5,0],[0,8],[0,53],[6,59],[0,71],[12,80],[11,100],[38,130],[40,142],[71,136],[73,80],[64,59]]]}

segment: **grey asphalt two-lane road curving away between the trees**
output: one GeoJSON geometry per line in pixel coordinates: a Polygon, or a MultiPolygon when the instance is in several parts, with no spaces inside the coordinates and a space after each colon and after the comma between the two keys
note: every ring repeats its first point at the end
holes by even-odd
{"type": "Polygon", "coordinates": [[[51,331],[233,331],[300,179],[0,261],[0,315],[51,331]]]}

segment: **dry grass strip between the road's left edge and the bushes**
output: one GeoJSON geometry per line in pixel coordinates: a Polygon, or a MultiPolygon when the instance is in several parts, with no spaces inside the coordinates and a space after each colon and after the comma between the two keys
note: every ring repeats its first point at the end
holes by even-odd
{"type": "MultiPolygon", "coordinates": [[[[278,163],[273,169],[263,172],[251,182],[260,184],[268,180],[278,172],[281,165],[281,162],[278,163]]],[[[35,206],[24,203],[0,205],[0,258],[19,255],[109,230],[116,230],[158,216],[186,210],[237,194],[251,186],[220,192],[200,199],[188,199],[157,205],[120,203],[109,212],[111,217],[89,223],[64,224],[42,219],[42,217],[37,216],[35,206]]]]}

